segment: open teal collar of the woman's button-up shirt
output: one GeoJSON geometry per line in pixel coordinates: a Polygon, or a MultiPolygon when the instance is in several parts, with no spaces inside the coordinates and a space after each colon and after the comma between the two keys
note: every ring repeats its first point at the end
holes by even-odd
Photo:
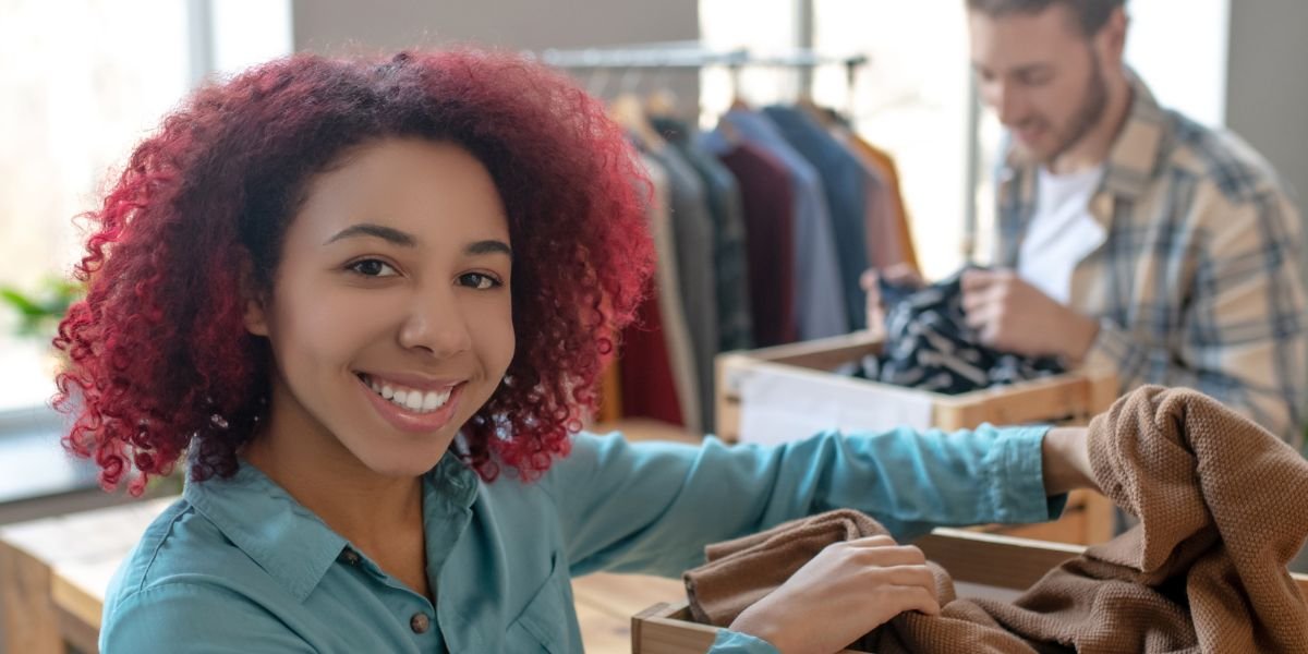
{"type": "MultiPolygon", "coordinates": [[[[430,532],[433,519],[472,506],[480,480],[454,453],[446,453],[424,475],[422,485],[424,522],[430,532]]],[[[298,602],[313,593],[349,544],[243,459],[228,479],[187,483],[182,497],[298,602]]]]}

